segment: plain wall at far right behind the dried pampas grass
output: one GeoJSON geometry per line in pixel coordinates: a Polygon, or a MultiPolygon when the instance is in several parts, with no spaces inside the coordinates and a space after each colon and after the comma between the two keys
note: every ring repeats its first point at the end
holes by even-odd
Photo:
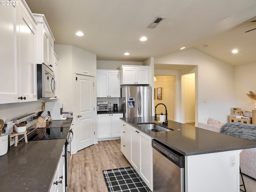
{"type": "Polygon", "coordinates": [[[246,95],[249,91],[256,94],[256,63],[234,67],[234,107],[242,111],[251,111],[256,107],[246,95]]]}

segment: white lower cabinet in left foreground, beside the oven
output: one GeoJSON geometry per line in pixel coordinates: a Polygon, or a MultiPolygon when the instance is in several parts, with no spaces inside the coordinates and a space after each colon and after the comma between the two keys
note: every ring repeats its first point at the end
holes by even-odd
{"type": "Polygon", "coordinates": [[[54,175],[50,192],[64,192],[65,191],[65,146],[62,149],[62,154],[58,167],[54,175]]]}

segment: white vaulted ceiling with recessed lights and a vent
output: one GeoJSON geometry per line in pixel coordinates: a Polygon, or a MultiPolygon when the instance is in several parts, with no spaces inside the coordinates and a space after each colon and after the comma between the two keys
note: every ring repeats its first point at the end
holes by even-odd
{"type": "Polygon", "coordinates": [[[256,0],[26,0],[46,16],[55,44],[97,60],[136,61],[194,47],[233,66],[256,62],[256,0]],[[165,17],[156,28],[147,26],[165,17]],[[245,23],[244,25],[241,25],[245,23]],[[84,36],[75,33],[80,30],[84,36]],[[145,42],[139,38],[146,36],[145,42]],[[207,44],[207,48],[203,45],[207,44]],[[240,52],[233,55],[236,48],[240,52]],[[129,52],[129,56],[124,53],[129,52]]]}

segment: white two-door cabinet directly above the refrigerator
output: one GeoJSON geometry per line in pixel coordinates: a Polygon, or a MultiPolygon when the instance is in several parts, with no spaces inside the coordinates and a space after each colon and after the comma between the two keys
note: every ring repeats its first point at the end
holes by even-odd
{"type": "Polygon", "coordinates": [[[149,84],[149,66],[122,65],[121,85],[127,84],[149,84]]]}

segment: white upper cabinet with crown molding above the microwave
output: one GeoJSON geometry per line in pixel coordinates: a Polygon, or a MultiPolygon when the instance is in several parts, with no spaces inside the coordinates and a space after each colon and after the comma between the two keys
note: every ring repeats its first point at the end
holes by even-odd
{"type": "Polygon", "coordinates": [[[36,64],[44,63],[54,71],[54,37],[44,14],[33,14],[37,25],[36,64]]]}

